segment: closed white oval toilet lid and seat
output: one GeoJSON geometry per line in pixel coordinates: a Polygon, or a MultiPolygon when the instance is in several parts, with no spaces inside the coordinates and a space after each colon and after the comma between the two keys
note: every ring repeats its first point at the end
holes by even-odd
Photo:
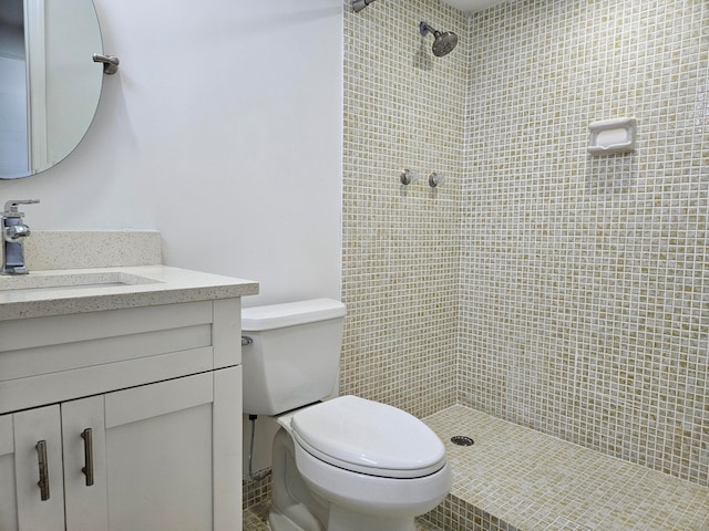
{"type": "Polygon", "coordinates": [[[425,424],[401,409],[357,396],[298,412],[290,427],[307,451],[347,470],[419,478],[445,465],[445,447],[425,424]]]}

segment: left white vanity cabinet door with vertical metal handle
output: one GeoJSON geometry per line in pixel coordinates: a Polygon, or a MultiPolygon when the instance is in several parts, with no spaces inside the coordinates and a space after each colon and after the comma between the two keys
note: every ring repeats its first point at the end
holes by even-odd
{"type": "Polygon", "coordinates": [[[64,530],[59,406],[0,417],[0,529],[64,530]]]}

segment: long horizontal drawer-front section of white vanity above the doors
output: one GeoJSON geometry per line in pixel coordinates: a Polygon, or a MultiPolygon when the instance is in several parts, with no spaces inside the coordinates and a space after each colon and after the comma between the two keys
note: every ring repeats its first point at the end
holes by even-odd
{"type": "Polygon", "coordinates": [[[0,322],[0,413],[240,363],[240,301],[0,322]]]}

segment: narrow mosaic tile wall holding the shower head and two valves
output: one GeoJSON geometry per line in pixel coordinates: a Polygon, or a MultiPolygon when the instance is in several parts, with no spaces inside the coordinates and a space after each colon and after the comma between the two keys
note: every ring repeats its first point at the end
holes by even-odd
{"type": "Polygon", "coordinates": [[[422,417],[455,402],[467,44],[436,59],[419,23],[463,35],[467,19],[435,0],[345,4],[340,393],[422,417]],[[404,168],[420,180],[402,186],[404,168]]]}

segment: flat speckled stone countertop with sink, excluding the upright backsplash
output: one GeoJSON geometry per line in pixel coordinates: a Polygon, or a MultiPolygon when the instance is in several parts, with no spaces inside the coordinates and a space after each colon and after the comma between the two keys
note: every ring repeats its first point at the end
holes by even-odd
{"type": "Polygon", "coordinates": [[[166,266],[32,271],[0,278],[0,321],[232,299],[258,293],[258,282],[166,266]],[[81,279],[72,282],[72,279],[81,279]],[[53,288],[54,280],[63,285],[53,288]],[[43,284],[23,289],[28,282],[43,284]],[[76,288],[72,284],[90,284],[76,288]]]}

